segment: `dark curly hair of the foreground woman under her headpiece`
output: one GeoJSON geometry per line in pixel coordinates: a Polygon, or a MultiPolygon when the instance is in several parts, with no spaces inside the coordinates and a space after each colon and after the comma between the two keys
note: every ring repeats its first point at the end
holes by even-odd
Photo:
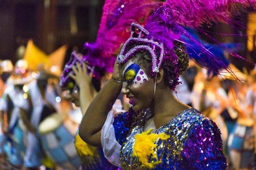
{"type": "MultiPolygon", "coordinates": [[[[131,48],[134,48],[137,44],[131,44],[127,47],[127,51],[131,48]]],[[[183,74],[188,66],[189,66],[189,55],[186,53],[186,47],[183,45],[182,42],[175,41],[174,42],[174,53],[177,55],[177,64],[173,64],[174,62],[169,59],[169,57],[165,57],[163,59],[162,65],[160,68],[164,71],[164,82],[166,85],[169,85],[170,88],[174,89],[174,85],[172,82],[175,81],[175,69],[178,68],[179,76],[183,74]]],[[[157,52],[157,58],[159,58],[160,52],[157,52]]],[[[151,54],[146,50],[139,50],[134,54],[136,61],[139,65],[143,65],[144,68],[148,68],[146,72],[151,74],[151,67],[152,67],[152,57],[151,54]]]]}

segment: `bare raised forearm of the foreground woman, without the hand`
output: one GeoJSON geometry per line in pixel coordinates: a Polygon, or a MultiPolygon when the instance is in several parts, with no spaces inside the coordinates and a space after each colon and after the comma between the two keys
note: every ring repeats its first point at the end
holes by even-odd
{"type": "Polygon", "coordinates": [[[99,91],[88,107],[79,130],[81,139],[91,145],[101,146],[100,133],[108,112],[119,96],[122,89],[122,82],[116,82],[111,78],[99,91]]]}

